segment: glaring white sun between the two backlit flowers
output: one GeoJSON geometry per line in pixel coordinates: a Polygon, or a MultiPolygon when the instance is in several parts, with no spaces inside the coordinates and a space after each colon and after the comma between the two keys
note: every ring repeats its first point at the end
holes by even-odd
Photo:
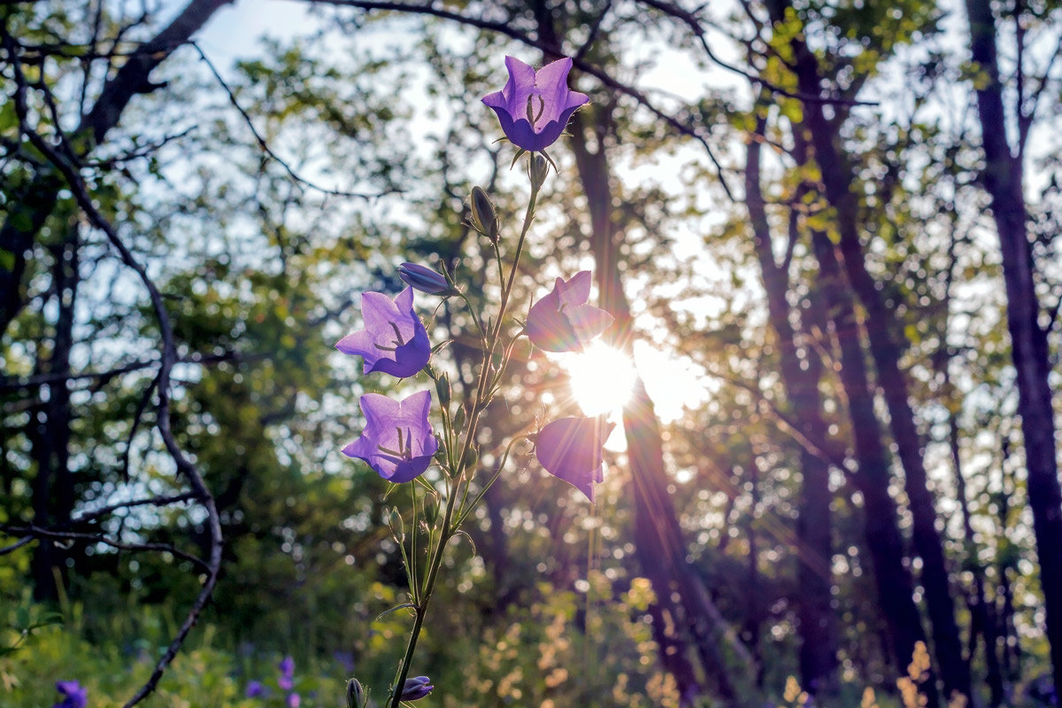
{"type": "Polygon", "coordinates": [[[593,342],[564,361],[571,396],[583,415],[617,411],[631,398],[635,369],[631,358],[607,344],[593,342]]]}

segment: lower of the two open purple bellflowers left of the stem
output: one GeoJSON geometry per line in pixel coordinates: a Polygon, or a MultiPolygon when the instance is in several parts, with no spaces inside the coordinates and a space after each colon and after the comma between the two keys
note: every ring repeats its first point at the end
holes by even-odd
{"type": "Polygon", "coordinates": [[[343,448],[343,454],[364,460],[389,482],[419,477],[439,450],[428,424],[431,392],[419,391],[400,402],[365,394],[358,404],[365,416],[365,429],[361,437],[343,448]]]}

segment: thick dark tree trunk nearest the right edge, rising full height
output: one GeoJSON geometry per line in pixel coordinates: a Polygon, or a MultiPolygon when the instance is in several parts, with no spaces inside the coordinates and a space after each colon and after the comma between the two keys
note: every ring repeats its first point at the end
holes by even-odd
{"type": "MultiPolygon", "coordinates": [[[[996,55],[995,17],[988,0],[966,0],[970,51],[983,77],[977,89],[977,114],[984,148],[984,188],[999,232],[1007,289],[1007,329],[1017,378],[1017,412],[1028,476],[1028,499],[1044,593],[1045,634],[1050,643],[1056,687],[1062,686],[1062,488],[1059,485],[1051,407],[1047,332],[1040,327],[1035,266],[1026,230],[1020,151],[1007,142],[1003,83],[996,55]]],[[[1018,110],[1023,110],[1018,106],[1018,110]]]]}

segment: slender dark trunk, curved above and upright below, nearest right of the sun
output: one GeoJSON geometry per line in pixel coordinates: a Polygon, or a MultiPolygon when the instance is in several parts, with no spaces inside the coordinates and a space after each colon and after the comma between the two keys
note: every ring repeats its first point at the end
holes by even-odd
{"type": "MultiPolygon", "coordinates": [[[[756,137],[763,135],[766,121],[756,125],[756,137]]],[[[771,246],[770,225],[759,185],[760,141],[749,141],[746,151],[746,205],[759,258],[764,289],[767,292],[768,316],[778,345],[782,380],[789,401],[789,412],[800,432],[810,441],[828,437],[822,418],[819,381],[822,361],[807,348],[798,348],[796,335],[790,322],[787,298],[788,274],[778,266],[771,246]]],[[[793,238],[794,235],[790,235],[793,238]]],[[[830,511],[829,467],[819,456],[801,448],[800,518],[796,537],[800,581],[799,608],[801,636],[801,686],[809,693],[829,694],[837,688],[837,619],[830,606],[830,511]]]]}

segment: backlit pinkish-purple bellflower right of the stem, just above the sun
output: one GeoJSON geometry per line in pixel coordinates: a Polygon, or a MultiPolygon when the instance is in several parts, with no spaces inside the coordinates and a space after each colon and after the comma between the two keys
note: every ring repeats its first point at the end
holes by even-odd
{"type": "Polygon", "coordinates": [[[528,338],[546,351],[572,351],[609,328],[613,316],[587,305],[590,296],[590,272],[580,271],[565,281],[556,279],[553,290],[531,306],[528,313],[528,338]]]}

